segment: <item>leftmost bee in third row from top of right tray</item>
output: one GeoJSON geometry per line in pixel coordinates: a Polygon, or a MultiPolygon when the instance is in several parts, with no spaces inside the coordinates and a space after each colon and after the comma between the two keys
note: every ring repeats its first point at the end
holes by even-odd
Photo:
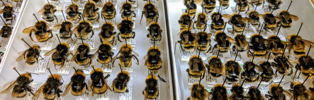
{"type": "Polygon", "coordinates": [[[182,29],[179,36],[181,40],[179,40],[178,42],[180,43],[180,47],[183,53],[184,50],[182,48],[182,44],[184,49],[187,51],[191,51],[195,47],[197,38],[194,36],[194,34],[191,33],[190,30],[182,29]]]}

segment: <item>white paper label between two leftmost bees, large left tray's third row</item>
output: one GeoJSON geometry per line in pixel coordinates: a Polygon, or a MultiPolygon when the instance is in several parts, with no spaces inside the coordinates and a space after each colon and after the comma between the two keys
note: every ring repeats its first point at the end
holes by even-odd
{"type": "Polygon", "coordinates": [[[40,53],[41,57],[38,58],[38,63],[35,68],[35,73],[47,73],[47,67],[49,67],[49,64],[51,63],[51,57],[50,56],[44,56],[45,53],[40,53]]]}

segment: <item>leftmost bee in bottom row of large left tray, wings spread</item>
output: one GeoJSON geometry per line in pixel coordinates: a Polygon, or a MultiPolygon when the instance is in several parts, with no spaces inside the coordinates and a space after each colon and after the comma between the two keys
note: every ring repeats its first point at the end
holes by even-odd
{"type": "MultiPolygon", "coordinates": [[[[13,68],[18,74],[19,72],[16,70],[16,68],[13,68]]],[[[34,95],[32,87],[30,86],[30,83],[32,83],[34,79],[32,79],[32,75],[29,72],[19,74],[19,77],[16,78],[16,80],[5,83],[3,87],[7,88],[0,92],[0,94],[9,93],[10,90],[13,88],[12,91],[12,97],[13,98],[25,98],[26,95],[28,95],[27,92],[30,92],[32,95],[34,95]]]]}

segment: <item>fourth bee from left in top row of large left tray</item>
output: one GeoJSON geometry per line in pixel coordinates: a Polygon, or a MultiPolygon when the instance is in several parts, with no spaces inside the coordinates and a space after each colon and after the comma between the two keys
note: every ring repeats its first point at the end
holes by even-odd
{"type": "MultiPolygon", "coordinates": [[[[104,5],[97,5],[98,7],[102,7],[101,13],[104,14],[106,20],[111,20],[116,16],[116,8],[112,2],[106,2],[104,5]]],[[[102,18],[102,16],[101,16],[102,18]]]]}

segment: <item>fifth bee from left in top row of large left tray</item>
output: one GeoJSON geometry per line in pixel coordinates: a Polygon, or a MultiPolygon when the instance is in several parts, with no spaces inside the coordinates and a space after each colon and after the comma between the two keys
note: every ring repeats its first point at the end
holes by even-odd
{"type": "Polygon", "coordinates": [[[123,2],[122,6],[120,7],[120,14],[122,18],[132,18],[136,17],[136,14],[134,12],[138,12],[137,9],[132,7],[131,2],[123,2]]]}

